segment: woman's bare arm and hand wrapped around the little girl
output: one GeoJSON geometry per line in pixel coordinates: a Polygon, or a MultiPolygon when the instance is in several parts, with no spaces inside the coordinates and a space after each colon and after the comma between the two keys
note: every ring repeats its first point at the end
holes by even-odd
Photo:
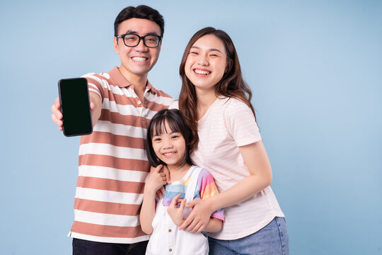
{"type": "Polygon", "coordinates": [[[236,205],[253,197],[272,183],[272,169],[262,141],[239,147],[250,176],[228,190],[203,200],[192,200],[186,208],[192,212],[179,229],[190,232],[205,231],[209,217],[215,210],[236,205]]]}

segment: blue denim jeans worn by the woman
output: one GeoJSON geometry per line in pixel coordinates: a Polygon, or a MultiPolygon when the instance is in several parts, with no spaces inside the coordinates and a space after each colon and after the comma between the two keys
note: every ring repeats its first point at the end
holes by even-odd
{"type": "Polygon", "coordinates": [[[209,254],[289,255],[289,236],[284,217],[275,217],[259,231],[236,240],[208,237],[209,254]]]}

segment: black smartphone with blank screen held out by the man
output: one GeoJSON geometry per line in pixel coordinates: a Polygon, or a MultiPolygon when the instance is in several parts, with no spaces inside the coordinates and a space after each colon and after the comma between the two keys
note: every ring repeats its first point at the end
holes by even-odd
{"type": "Polygon", "coordinates": [[[93,132],[88,81],[85,78],[61,79],[58,82],[62,130],[67,137],[93,132]]]}

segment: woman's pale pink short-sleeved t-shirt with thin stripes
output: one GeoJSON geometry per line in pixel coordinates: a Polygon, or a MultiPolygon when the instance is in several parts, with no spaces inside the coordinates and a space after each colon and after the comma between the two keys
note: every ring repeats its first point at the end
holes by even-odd
{"type": "MultiPolygon", "coordinates": [[[[261,140],[255,117],[235,98],[217,98],[198,121],[199,144],[192,154],[198,166],[214,176],[219,193],[249,176],[239,147],[261,140]]],[[[225,222],[216,239],[238,239],[265,227],[276,216],[284,217],[270,186],[242,203],[224,208],[225,222]]]]}

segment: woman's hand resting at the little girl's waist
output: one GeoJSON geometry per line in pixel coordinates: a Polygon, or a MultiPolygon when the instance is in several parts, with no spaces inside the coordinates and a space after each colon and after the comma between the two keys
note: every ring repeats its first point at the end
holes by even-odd
{"type": "Polygon", "coordinates": [[[192,211],[182,225],[179,226],[179,229],[193,233],[202,232],[209,222],[209,217],[211,217],[212,212],[214,212],[211,210],[211,205],[209,205],[208,200],[192,200],[190,203],[187,203],[185,207],[192,208],[192,211]]]}

